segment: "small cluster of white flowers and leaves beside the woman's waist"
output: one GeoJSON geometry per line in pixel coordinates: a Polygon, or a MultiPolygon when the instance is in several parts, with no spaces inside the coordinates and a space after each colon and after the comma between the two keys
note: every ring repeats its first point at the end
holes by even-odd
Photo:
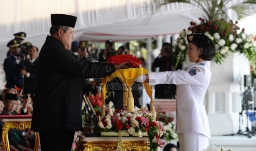
{"type": "Polygon", "coordinates": [[[178,135],[175,132],[175,121],[170,115],[166,114],[166,112],[157,113],[156,120],[162,122],[166,133],[162,135],[162,139],[165,139],[168,143],[171,143],[172,140],[178,141],[178,135]]]}

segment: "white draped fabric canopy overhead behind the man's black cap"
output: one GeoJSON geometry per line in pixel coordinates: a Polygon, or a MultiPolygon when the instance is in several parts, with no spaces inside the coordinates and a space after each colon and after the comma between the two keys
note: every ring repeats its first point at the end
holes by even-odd
{"type": "Polygon", "coordinates": [[[175,3],[152,14],[151,0],[9,0],[0,1],[0,60],[6,57],[6,44],[14,33],[23,31],[41,48],[55,13],[78,16],[75,39],[104,42],[127,41],[179,33],[198,21],[203,11],[191,4],[175,3]]]}

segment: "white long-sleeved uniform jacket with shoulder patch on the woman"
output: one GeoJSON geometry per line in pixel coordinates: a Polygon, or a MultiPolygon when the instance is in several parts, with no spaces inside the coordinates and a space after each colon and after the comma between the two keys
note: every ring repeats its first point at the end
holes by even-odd
{"type": "Polygon", "coordinates": [[[149,74],[149,84],[176,84],[176,133],[201,133],[210,137],[204,96],[211,79],[210,61],[202,61],[180,71],[149,74]]]}

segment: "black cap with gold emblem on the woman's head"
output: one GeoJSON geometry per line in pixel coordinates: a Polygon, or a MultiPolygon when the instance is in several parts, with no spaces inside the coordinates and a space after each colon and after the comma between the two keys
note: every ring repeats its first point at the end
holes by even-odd
{"type": "Polygon", "coordinates": [[[209,43],[211,39],[202,33],[187,34],[188,43],[209,43]]]}

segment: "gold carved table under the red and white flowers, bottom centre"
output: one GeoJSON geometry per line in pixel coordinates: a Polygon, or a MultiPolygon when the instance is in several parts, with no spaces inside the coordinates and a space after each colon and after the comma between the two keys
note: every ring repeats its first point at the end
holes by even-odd
{"type": "MultiPolygon", "coordinates": [[[[117,150],[118,137],[87,137],[79,136],[76,151],[113,151],[117,150]]],[[[122,137],[123,149],[126,151],[148,151],[148,137],[122,137]]]]}

